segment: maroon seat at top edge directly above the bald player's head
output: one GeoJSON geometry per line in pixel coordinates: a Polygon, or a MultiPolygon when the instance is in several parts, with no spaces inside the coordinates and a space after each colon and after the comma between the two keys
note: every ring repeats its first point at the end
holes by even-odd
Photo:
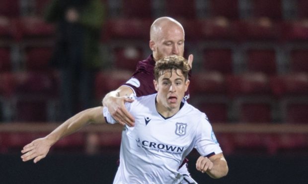
{"type": "Polygon", "coordinates": [[[196,2],[195,0],[165,0],[164,16],[170,16],[175,19],[196,19],[196,2]]]}

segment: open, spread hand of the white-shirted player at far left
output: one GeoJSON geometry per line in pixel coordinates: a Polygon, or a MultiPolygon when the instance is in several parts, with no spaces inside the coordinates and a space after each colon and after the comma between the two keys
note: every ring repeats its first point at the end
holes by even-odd
{"type": "Polygon", "coordinates": [[[26,162],[33,158],[34,163],[40,161],[42,158],[46,157],[51,145],[52,141],[47,138],[38,138],[33,140],[31,143],[25,145],[21,150],[21,153],[23,153],[21,156],[22,161],[26,162]]]}

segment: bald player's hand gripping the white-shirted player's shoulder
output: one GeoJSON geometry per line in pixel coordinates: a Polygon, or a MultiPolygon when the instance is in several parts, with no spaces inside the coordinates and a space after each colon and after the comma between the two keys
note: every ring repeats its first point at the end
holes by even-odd
{"type": "Polygon", "coordinates": [[[128,125],[133,127],[135,125],[135,118],[127,111],[125,107],[126,102],[133,102],[134,100],[128,97],[110,97],[110,101],[106,104],[111,116],[121,125],[128,125]]]}

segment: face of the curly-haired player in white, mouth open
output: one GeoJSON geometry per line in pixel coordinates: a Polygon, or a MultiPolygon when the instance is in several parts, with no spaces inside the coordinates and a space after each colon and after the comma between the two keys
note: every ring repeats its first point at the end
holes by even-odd
{"type": "Polygon", "coordinates": [[[172,70],[172,73],[165,70],[158,81],[154,81],[157,103],[164,110],[178,110],[188,85],[189,80],[185,81],[181,70],[172,70]]]}

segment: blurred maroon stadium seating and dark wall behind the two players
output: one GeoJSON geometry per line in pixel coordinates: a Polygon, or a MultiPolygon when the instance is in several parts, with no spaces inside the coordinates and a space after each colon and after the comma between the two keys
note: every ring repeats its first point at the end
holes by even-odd
{"type": "MultiPolygon", "coordinates": [[[[0,0],[0,183],[112,183],[119,126],[82,129],[37,164],[19,158],[25,144],[64,120],[62,69],[51,64],[61,23],[46,19],[52,1],[0,0]]],[[[85,6],[79,1],[77,10],[85,6]]],[[[171,16],[184,27],[185,56],[194,54],[190,103],[209,117],[230,167],[227,177],[210,179],[195,170],[194,151],[188,157],[193,178],[200,184],[307,183],[307,0],[100,2],[104,16],[93,48],[100,65],[90,106],[130,78],[151,54],[152,22],[171,16]]],[[[83,19],[86,28],[94,19],[83,19]]],[[[76,113],[83,104],[74,101],[76,113]]]]}

